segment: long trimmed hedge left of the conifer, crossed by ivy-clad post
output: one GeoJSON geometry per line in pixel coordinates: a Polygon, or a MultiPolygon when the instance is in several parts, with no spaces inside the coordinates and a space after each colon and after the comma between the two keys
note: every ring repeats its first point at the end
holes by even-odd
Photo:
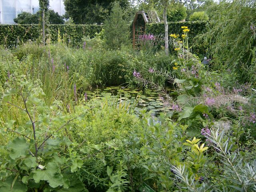
{"type": "MultiPolygon", "coordinates": [[[[53,42],[58,41],[58,29],[65,42],[78,45],[84,36],[94,37],[102,30],[100,25],[50,25],[50,36],[53,42]]],[[[0,44],[8,48],[28,40],[38,40],[38,25],[0,25],[0,44]]]]}

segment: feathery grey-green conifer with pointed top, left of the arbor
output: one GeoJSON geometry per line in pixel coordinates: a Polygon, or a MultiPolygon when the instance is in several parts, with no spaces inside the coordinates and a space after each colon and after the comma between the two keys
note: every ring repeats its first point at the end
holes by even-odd
{"type": "Polygon", "coordinates": [[[122,44],[128,44],[129,42],[128,25],[122,17],[122,8],[118,2],[115,2],[104,28],[104,36],[109,48],[117,49],[122,44]]]}

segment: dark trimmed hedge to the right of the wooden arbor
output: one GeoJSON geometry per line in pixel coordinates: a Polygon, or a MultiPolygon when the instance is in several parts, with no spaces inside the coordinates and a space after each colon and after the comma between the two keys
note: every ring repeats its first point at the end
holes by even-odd
{"type": "MultiPolygon", "coordinates": [[[[199,34],[207,32],[210,22],[206,21],[194,21],[194,22],[168,22],[168,33],[170,34],[182,34],[182,26],[188,26],[190,32],[188,33],[189,44],[192,46],[196,37],[199,34]]],[[[147,34],[164,34],[164,23],[150,23],[146,27],[147,34]]],[[[206,44],[194,44],[193,52],[196,54],[205,54],[208,45],[206,44]]],[[[172,47],[170,47],[172,48],[172,47]]]]}

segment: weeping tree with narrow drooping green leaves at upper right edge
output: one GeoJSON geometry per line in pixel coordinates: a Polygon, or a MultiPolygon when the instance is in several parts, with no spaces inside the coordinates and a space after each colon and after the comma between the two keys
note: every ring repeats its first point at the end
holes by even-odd
{"type": "Polygon", "coordinates": [[[244,0],[214,6],[214,23],[201,38],[210,44],[209,52],[215,58],[214,69],[229,68],[243,82],[251,79],[250,67],[255,66],[252,62],[256,37],[255,7],[254,1],[244,0]]]}

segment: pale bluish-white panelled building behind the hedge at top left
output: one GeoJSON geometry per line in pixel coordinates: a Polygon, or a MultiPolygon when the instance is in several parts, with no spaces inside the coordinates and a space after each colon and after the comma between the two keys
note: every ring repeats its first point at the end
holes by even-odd
{"type": "MultiPolygon", "coordinates": [[[[32,7],[34,7],[34,13],[39,9],[38,0],[0,0],[0,23],[2,24],[15,24],[13,19],[16,15],[24,12],[33,13],[32,7]]],[[[65,8],[63,0],[50,0],[50,9],[63,15],[65,8]]]]}

